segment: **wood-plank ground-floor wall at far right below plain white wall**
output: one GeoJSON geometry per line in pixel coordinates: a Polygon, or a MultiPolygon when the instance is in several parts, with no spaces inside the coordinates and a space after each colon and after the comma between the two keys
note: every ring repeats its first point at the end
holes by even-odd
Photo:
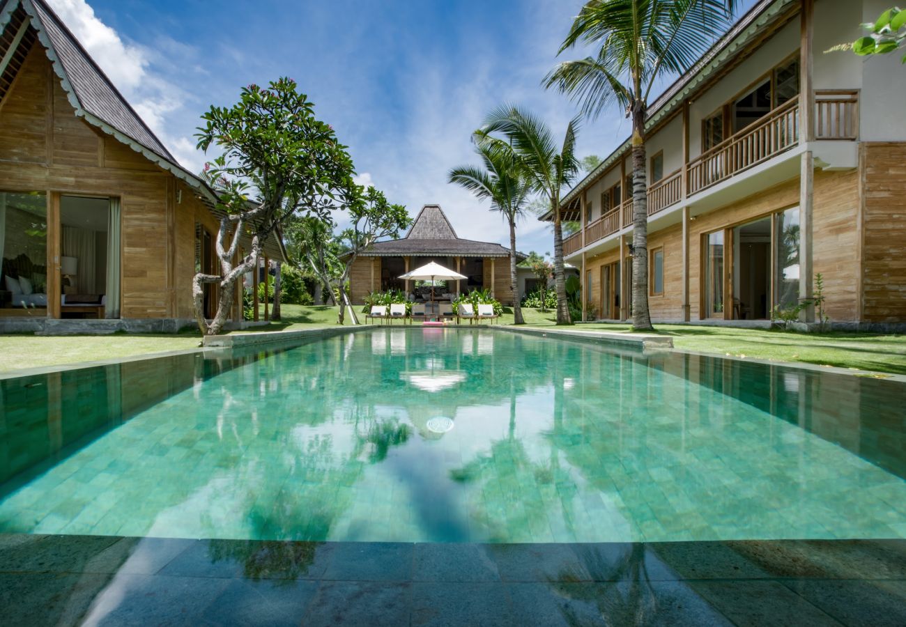
{"type": "Polygon", "coordinates": [[[906,322],[906,143],[865,143],[863,317],[906,322]]]}

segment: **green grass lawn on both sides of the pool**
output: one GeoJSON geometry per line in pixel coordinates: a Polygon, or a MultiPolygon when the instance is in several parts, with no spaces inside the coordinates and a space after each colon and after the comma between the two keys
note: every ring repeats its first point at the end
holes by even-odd
{"type": "MultiPolygon", "coordinates": [[[[532,326],[554,325],[554,312],[542,313],[535,309],[524,312],[526,322],[532,326]]],[[[236,333],[333,326],[336,317],[336,307],[285,304],[281,322],[236,333]]],[[[360,321],[364,322],[363,314],[360,315],[360,321]]],[[[348,317],[346,323],[349,323],[348,317]]],[[[507,310],[500,323],[513,323],[511,310],[507,310]]],[[[591,323],[576,325],[574,328],[630,332],[628,324],[591,323]]],[[[906,374],[906,335],[787,333],[676,324],[659,324],[657,333],[670,335],[676,348],[687,351],[906,374]]],[[[193,333],[192,330],[177,335],[2,335],[0,354],[7,356],[7,359],[0,360],[0,371],[191,349],[198,347],[198,342],[198,333],[193,333]]]]}

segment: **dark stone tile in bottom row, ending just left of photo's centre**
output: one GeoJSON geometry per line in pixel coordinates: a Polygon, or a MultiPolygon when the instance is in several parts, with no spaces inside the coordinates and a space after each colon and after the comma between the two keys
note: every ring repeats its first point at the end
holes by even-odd
{"type": "Polygon", "coordinates": [[[410,622],[411,585],[398,582],[322,582],[302,624],[398,627],[410,622]]]}

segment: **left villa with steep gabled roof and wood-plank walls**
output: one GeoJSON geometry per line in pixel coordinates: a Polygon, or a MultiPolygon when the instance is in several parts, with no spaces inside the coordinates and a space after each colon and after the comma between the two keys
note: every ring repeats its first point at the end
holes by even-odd
{"type": "Polygon", "coordinates": [[[0,0],[0,329],[192,323],[192,277],[217,263],[215,203],[43,0],[0,0]]]}

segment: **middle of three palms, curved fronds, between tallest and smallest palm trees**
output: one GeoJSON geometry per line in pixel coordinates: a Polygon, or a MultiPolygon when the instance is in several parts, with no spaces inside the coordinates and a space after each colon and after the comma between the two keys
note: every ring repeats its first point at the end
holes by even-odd
{"type": "Polygon", "coordinates": [[[513,105],[503,105],[488,114],[482,127],[475,131],[479,146],[511,155],[510,159],[525,173],[531,188],[548,201],[554,217],[554,284],[557,292],[557,324],[572,324],[566,304],[564,277],[564,236],[560,216],[560,194],[573,182],[579,171],[575,156],[578,118],[566,126],[559,149],[554,133],[544,121],[513,105]],[[498,137],[496,134],[502,135],[498,137]]]}

